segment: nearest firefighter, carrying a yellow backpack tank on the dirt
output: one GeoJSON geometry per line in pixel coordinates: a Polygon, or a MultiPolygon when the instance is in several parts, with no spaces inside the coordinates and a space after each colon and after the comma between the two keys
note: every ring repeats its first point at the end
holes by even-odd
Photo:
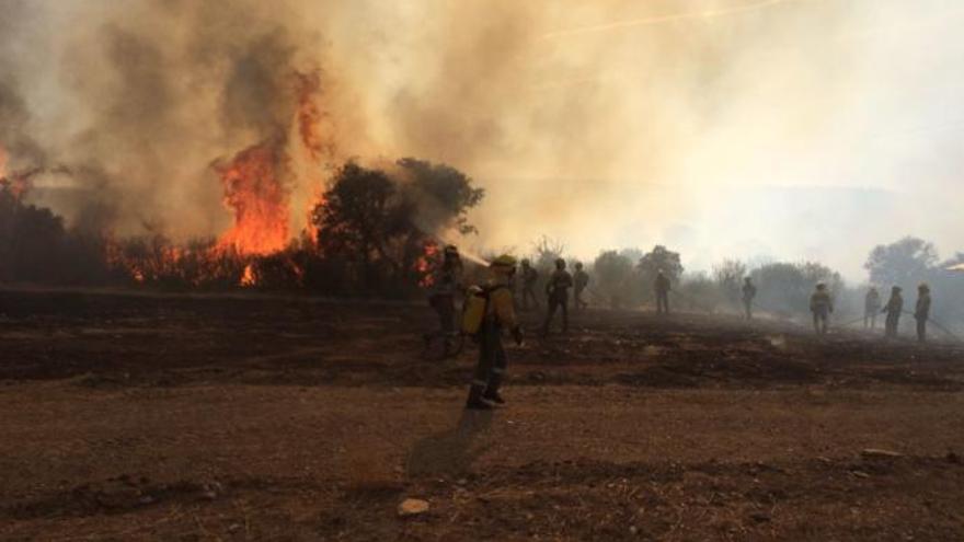
{"type": "Polygon", "coordinates": [[[509,330],[517,345],[523,344],[523,331],[516,320],[513,295],[508,288],[516,270],[516,258],[509,255],[498,256],[489,269],[492,279],[484,288],[487,301],[485,318],[479,330],[479,364],[475,366],[466,402],[466,408],[479,411],[491,410],[493,403],[505,403],[498,393],[506,369],[505,348],[502,345],[503,330],[509,330]]]}

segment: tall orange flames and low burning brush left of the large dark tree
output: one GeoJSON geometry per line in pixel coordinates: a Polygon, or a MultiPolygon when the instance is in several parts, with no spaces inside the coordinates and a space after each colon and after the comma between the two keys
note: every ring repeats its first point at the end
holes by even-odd
{"type": "MultiPolygon", "coordinates": [[[[291,137],[275,137],[251,146],[230,160],[215,162],[223,189],[223,204],[233,214],[231,227],[207,249],[185,250],[172,245],[154,246],[146,251],[125,252],[116,241],[110,241],[107,261],[137,282],[154,281],[159,277],[176,276],[195,285],[220,281],[233,276],[238,286],[255,287],[265,269],[260,258],[278,255],[271,273],[278,268],[296,281],[301,281],[303,269],[287,257],[285,250],[292,238],[290,228],[290,183],[300,181],[315,186],[317,196],[310,204],[314,209],[323,203],[322,160],[332,155],[334,142],[324,126],[325,114],[318,105],[321,80],[318,73],[295,73],[294,91],[297,111],[291,119],[291,137]],[[301,152],[295,152],[301,151],[301,152]],[[292,161],[299,157],[308,178],[292,178],[292,161]],[[318,172],[318,173],[315,173],[318,172]],[[279,263],[278,263],[279,262],[279,263]],[[188,273],[190,276],[185,276],[188,273]]],[[[305,227],[307,237],[315,245],[320,232],[310,220],[305,227]]]]}

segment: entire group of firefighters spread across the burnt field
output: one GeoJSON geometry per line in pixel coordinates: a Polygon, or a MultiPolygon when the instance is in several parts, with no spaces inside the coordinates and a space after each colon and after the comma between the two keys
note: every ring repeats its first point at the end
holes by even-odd
{"type": "MultiPolygon", "coordinates": [[[[516,318],[516,310],[539,308],[539,299],[536,296],[536,287],[539,281],[538,272],[528,260],[523,260],[519,266],[519,277],[516,277],[516,258],[508,254],[493,260],[489,265],[491,278],[485,286],[479,289],[485,302],[484,316],[474,334],[479,343],[479,362],[466,403],[466,407],[470,410],[491,410],[494,405],[505,403],[500,394],[500,387],[506,369],[506,356],[502,343],[503,332],[508,331],[516,344],[521,345],[524,337],[516,318]],[[520,303],[517,305],[518,287],[521,288],[521,295],[518,296],[520,303]]],[[[443,251],[441,264],[433,277],[433,288],[429,295],[429,304],[438,315],[439,334],[444,337],[446,349],[448,349],[449,338],[458,333],[456,330],[456,296],[463,290],[462,270],[458,247],[446,246],[443,251]]],[[[582,264],[575,264],[575,273],[570,274],[566,270],[564,260],[555,261],[555,269],[546,282],[548,307],[540,330],[543,336],[548,335],[550,324],[559,311],[562,312],[562,331],[563,333],[569,331],[569,290],[574,290],[575,310],[584,310],[588,303],[583,299],[583,293],[588,285],[589,275],[583,269],[582,264]]],[[[669,277],[659,270],[653,286],[657,314],[668,314],[669,291],[672,289],[669,277]]],[[[753,279],[747,277],[743,286],[743,303],[747,320],[753,319],[756,296],[757,287],[753,279]]],[[[920,342],[927,338],[930,304],[930,288],[922,284],[918,288],[917,307],[914,313],[917,320],[917,337],[920,342]]],[[[904,312],[900,287],[895,286],[891,290],[891,299],[886,305],[881,304],[881,296],[876,288],[871,288],[867,293],[864,309],[863,320],[867,328],[873,330],[876,326],[877,315],[886,313],[885,335],[887,337],[897,336],[897,327],[904,312]]],[[[826,334],[830,314],[834,312],[834,299],[827,285],[820,282],[816,286],[816,290],[811,296],[810,310],[813,314],[816,333],[826,334]]]]}

